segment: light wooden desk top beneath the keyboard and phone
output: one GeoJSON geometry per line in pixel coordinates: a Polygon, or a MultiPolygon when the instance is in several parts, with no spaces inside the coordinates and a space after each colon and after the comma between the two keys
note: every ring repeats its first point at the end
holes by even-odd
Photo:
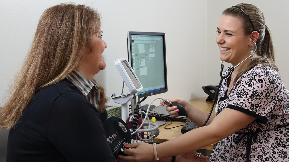
{"type": "MultiPolygon", "coordinates": [[[[205,111],[207,113],[210,112],[212,104],[213,104],[212,101],[206,101],[206,97],[200,98],[197,100],[192,100],[192,101],[190,101],[190,103],[192,103],[194,106],[196,106],[200,110],[205,111]]],[[[214,113],[215,113],[215,111],[213,110],[212,115],[214,115],[214,113]]],[[[176,128],[172,128],[172,129],[164,129],[164,126],[167,125],[168,123],[161,125],[159,127],[160,134],[158,135],[158,137],[155,138],[154,142],[165,142],[165,141],[174,139],[174,138],[182,135],[181,127],[176,127],[176,128]]],[[[175,127],[178,125],[184,125],[184,124],[185,123],[173,122],[171,125],[168,126],[168,128],[175,127]]],[[[217,143],[218,143],[218,141],[204,147],[203,149],[213,150],[213,148],[216,146],[217,143]]]]}

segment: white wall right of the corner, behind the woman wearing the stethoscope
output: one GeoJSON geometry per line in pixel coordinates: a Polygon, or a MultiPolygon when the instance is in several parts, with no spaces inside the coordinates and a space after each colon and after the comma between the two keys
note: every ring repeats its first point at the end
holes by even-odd
{"type": "MultiPolygon", "coordinates": [[[[289,87],[288,75],[288,37],[289,37],[289,1],[271,0],[207,0],[207,60],[210,62],[207,75],[208,84],[218,84],[220,79],[220,52],[216,44],[216,28],[223,10],[238,3],[251,3],[258,6],[264,13],[266,25],[271,29],[275,48],[275,60],[283,82],[289,87]],[[221,3],[220,3],[221,2],[221,3]],[[210,70],[211,69],[211,70],[210,70]]],[[[225,68],[230,64],[225,64],[225,68]]]]}

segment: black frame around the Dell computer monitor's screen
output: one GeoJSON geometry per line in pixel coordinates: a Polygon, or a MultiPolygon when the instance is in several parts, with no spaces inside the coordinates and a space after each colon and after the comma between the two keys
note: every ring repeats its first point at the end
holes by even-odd
{"type": "Polygon", "coordinates": [[[166,39],[165,33],[158,33],[158,32],[136,32],[136,31],[128,31],[127,32],[127,55],[128,55],[128,62],[133,67],[132,64],[132,53],[131,53],[131,35],[159,35],[163,37],[163,52],[164,52],[164,79],[165,79],[165,89],[160,91],[155,91],[151,93],[145,94],[138,94],[138,98],[143,98],[147,96],[152,96],[156,94],[162,94],[168,92],[168,82],[167,82],[167,71],[166,71],[166,39]]]}

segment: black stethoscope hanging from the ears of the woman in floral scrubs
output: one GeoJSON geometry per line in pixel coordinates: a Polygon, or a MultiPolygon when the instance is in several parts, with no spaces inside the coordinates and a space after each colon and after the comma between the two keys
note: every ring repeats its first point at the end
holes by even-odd
{"type": "MultiPolygon", "coordinates": [[[[244,61],[246,61],[248,58],[250,58],[251,56],[253,56],[253,55],[255,54],[255,52],[256,52],[256,50],[257,50],[256,42],[254,42],[251,38],[250,38],[250,41],[252,41],[252,42],[254,43],[254,45],[255,45],[255,50],[254,50],[254,52],[253,52],[250,56],[248,56],[247,58],[245,58],[243,61],[241,61],[239,64],[237,64],[236,66],[233,66],[233,67],[229,70],[228,74],[225,75],[225,76],[223,76],[223,68],[224,68],[224,65],[223,65],[223,61],[221,60],[221,71],[220,71],[221,80],[220,80],[220,83],[219,83],[219,85],[218,85],[217,92],[216,92],[216,94],[215,94],[214,101],[213,101],[213,104],[212,104],[210,113],[209,113],[209,115],[208,115],[208,118],[206,119],[205,123],[203,123],[202,127],[203,127],[204,125],[206,125],[207,122],[208,122],[208,120],[210,119],[210,116],[211,116],[212,111],[213,111],[213,109],[214,109],[214,105],[215,105],[215,103],[216,103],[216,101],[217,101],[217,98],[218,98],[218,96],[219,96],[219,89],[220,89],[220,87],[221,87],[221,83],[222,83],[223,79],[225,79],[225,78],[227,78],[229,75],[231,75],[231,73],[234,71],[234,69],[235,69],[236,67],[238,67],[240,64],[242,64],[244,61]]],[[[251,50],[252,50],[252,49],[251,49],[251,50]]],[[[222,92],[223,92],[223,93],[226,93],[226,92],[227,92],[227,86],[225,86],[225,85],[223,86],[222,92]]]]}

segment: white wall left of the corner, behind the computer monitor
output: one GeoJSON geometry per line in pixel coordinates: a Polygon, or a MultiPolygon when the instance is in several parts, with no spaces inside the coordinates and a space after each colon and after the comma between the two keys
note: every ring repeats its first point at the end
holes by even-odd
{"type": "MultiPolygon", "coordinates": [[[[62,2],[66,1],[1,1],[1,99],[27,54],[41,14],[46,8],[62,2]]],[[[127,58],[127,31],[166,33],[168,92],[147,98],[146,104],[155,97],[180,96],[191,100],[205,96],[201,86],[206,85],[207,80],[204,73],[207,53],[206,1],[77,0],[74,2],[96,8],[102,15],[103,39],[108,44],[103,53],[107,66],[95,78],[105,86],[107,96],[121,93],[122,79],[114,66],[114,60],[127,58]],[[200,69],[198,67],[202,69],[193,70],[200,69]]],[[[109,104],[116,105],[112,100],[109,104]]]]}

